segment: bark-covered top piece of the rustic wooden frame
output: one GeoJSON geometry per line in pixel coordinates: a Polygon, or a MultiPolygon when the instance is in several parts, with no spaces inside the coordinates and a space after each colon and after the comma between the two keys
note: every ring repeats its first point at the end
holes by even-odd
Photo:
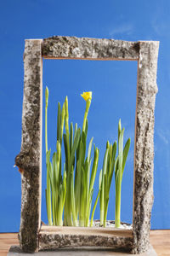
{"type": "Polygon", "coordinates": [[[138,60],[139,43],[57,36],[43,40],[42,55],[59,59],[138,60]]]}

